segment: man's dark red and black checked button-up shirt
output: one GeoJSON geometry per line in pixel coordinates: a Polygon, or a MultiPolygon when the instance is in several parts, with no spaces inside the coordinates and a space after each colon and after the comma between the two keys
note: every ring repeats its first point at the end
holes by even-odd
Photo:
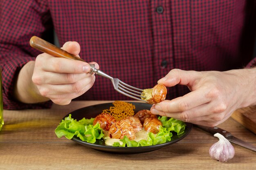
{"type": "MultiPolygon", "coordinates": [[[[56,31],[60,45],[77,41],[85,61],[138,88],[151,88],[171,69],[226,71],[255,65],[252,0],[1,0],[0,66],[5,109],[47,108],[12,99],[20,68],[39,51],[29,39],[56,31]]],[[[189,92],[168,88],[167,99],[189,92]]],[[[76,99],[130,100],[109,79],[76,99]]]]}

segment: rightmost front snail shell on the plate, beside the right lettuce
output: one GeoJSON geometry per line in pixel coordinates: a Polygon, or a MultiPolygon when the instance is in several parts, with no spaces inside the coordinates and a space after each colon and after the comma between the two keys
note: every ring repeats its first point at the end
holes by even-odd
{"type": "Polygon", "coordinates": [[[162,126],[162,122],[157,118],[146,118],[143,124],[144,129],[147,132],[157,134],[159,132],[159,126],[162,126]]]}

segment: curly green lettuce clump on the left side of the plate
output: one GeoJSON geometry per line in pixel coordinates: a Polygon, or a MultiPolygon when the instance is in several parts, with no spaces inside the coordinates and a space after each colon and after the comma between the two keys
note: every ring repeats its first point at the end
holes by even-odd
{"type": "Polygon", "coordinates": [[[55,134],[58,138],[65,136],[67,139],[72,139],[77,136],[82,141],[95,143],[96,139],[101,139],[104,134],[100,124],[92,125],[93,120],[94,118],[83,118],[80,121],[76,121],[70,114],[64,120],[61,120],[61,123],[55,129],[55,134]]]}

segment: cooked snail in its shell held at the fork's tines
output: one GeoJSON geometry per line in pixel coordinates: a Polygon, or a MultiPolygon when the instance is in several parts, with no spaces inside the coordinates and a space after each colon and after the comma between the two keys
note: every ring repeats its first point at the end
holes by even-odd
{"type": "Polygon", "coordinates": [[[146,100],[149,104],[156,104],[165,100],[167,88],[164,84],[157,84],[153,88],[144,89],[142,93],[141,99],[146,100]]]}

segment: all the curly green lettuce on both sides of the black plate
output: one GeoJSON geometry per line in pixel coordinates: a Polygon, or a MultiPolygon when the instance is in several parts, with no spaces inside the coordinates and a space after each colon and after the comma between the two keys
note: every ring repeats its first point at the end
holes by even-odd
{"type": "MultiPolygon", "coordinates": [[[[147,139],[142,139],[140,141],[130,140],[128,137],[124,136],[123,139],[120,139],[120,142],[115,142],[113,146],[138,147],[164,144],[172,140],[173,132],[177,133],[177,135],[184,133],[186,124],[183,121],[165,116],[160,116],[158,119],[162,122],[163,126],[159,127],[159,132],[157,134],[149,132],[147,139]]],[[[59,138],[65,136],[67,139],[72,139],[74,136],[77,136],[82,141],[95,143],[96,139],[101,139],[104,134],[103,130],[100,128],[100,124],[92,125],[93,120],[94,118],[83,118],[76,121],[76,119],[73,119],[70,114],[61,121],[55,129],[55,133],[59,138]]]]}

